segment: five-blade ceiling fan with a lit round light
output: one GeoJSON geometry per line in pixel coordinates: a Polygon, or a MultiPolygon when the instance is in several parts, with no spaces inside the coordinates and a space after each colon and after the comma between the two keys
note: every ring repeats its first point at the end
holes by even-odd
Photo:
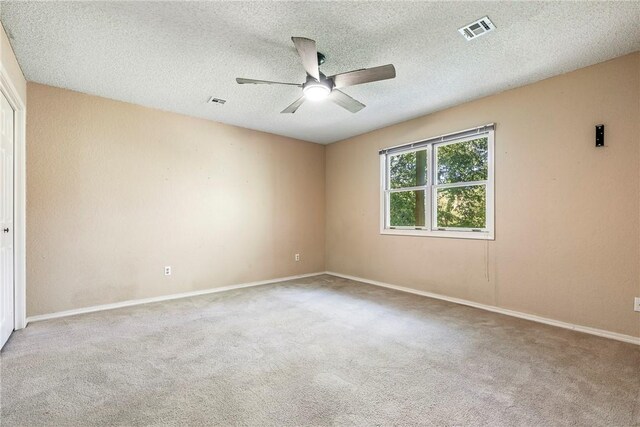
{"type": "Polygon", "coordinates": [[[362,83],[392,79],[396,76],[396,69],[392,64],[388,64],[380,67],[348,71],[346,73],[327,77],[322,74],[319,69],[319,66],[324,63],[325,57],[316,49],[316,42],[304,37],[291,37],[291,40],[296,46],[298,55],[300,55],[300,59],[302,59],[302,66],[307,72],[307,79],[304,83],[283,83],[268,80],[236,78],[236,82],[239,84],[267,84],[301,87],[302,96],[282,110],[281,113],[295,113],[307,99],[310,101],[317,101],[325,98],[335,102],[352,113],[357,113],[362,110],[365,105],[339,89],[362,83]]]}

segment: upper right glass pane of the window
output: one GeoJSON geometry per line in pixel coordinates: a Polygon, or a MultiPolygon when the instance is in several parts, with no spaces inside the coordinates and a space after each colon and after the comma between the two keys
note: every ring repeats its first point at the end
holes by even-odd
{"type": "Polygon", "coordinates": [[[487,179],[488,141],[485,136],[456,144],[436,146],[438,184],[487,179]]]}

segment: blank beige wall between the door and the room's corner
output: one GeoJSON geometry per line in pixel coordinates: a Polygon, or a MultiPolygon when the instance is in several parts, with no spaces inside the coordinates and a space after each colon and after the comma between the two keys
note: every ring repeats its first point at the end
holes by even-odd
{"type": "Polygon", "coordinates": [[[324,270],[323,146],[34,83],[28,97],[29,316],[324,270]]]}

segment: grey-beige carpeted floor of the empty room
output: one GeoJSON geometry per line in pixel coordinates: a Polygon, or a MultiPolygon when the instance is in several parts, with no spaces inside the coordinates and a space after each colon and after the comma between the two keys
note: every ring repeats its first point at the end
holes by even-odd
{"type": "Polygon", "coordinates": [[[640,348],[332,276],[30,324],[1,425],[640,425],[640,348]]]}

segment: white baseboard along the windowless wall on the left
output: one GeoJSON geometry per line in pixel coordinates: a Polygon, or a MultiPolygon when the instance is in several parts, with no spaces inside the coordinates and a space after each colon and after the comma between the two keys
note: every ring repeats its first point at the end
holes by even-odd
{"type": "Polygon", "coordinates": [[[148,304],[151,302],[169,301],[169,300],[180,299],[180,298],[194,297],[197,295],[213,294],[216,292],[224,292],[224,291],[230,291],[233,289],[249,288],[252,286],[268,285],[270,283],[286,282],[287,280],[302,279],[305,277],[318,276],[320,274],[324,274],[324,272],[321,271],[318,273],[299,274],[297,276],[278,277],[276,279],[260,280],[257,282],[249,282],[249,283],[239,283],[237,285],[222,286],[219,288],[209,288],[209,289],[203,289],[200,291],[182,292],[179,294],[162,295],[159,297],[127,300],[127,301],[115,302],[113,304],[94,305],[91,307],[76,308],[73,310],[58,311],[55,313],[40,314],[38,316],[27,317],[27,323],[39,322],[41,320],[57,319],[59,317],[75,316],[76,314],[93,313],[96,311],[104,311],[104,310],[113,310],[115,308],[130,307],[132,305],[148,304]]]}

